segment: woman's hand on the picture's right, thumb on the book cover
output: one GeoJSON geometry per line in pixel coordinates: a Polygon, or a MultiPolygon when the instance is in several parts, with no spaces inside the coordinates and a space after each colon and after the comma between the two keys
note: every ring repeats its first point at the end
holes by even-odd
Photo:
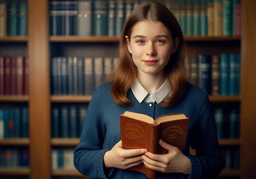
{"type": "Polygon", "coordinates": [[[146,152],[142,156],[144,165],[152,170],[159,172],[179,172],[189,174],[191,170],[191,161],[177,147],[169,145],[160,139],[159,144],[168,150],[168,154],[153,154],[146,152]]]}

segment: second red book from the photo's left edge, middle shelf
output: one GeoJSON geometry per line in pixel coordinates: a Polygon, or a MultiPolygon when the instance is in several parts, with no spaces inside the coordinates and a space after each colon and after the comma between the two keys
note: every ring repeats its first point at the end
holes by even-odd
{"type": "Polygon", "coordinates": [[[11,58],[4,57],[4,95],[11,94],[11,58]]]}

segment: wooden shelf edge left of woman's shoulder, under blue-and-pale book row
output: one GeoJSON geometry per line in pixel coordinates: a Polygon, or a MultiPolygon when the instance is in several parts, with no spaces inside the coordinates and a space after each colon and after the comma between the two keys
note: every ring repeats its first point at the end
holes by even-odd
{"type": "Polygon", "coordinates": [[[60,95],[60,96],[51,96],[51,102],[55,103],[89,103],[92,96],[72,96],[72,95],[60,95]]]}

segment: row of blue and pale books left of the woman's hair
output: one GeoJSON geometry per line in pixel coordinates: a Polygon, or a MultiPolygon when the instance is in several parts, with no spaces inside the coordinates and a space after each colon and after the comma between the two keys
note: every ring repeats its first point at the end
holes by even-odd
{"type": "Polygon", "coordinates": [[[117,60],[115,57],[53,57],[52,94],[92,95],[106,81],[117,60]]]}

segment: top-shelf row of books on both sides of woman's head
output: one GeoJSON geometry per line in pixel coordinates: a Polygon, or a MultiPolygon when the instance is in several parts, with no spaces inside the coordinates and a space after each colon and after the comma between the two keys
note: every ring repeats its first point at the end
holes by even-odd
{"type": "MultiPolygon", "coordinates": [[[[119,36],[143,0],[50,1],[50,34],[119,36]]],[[[240,35],[240,0],[162,0],[185,36],[240,35]]]]}

